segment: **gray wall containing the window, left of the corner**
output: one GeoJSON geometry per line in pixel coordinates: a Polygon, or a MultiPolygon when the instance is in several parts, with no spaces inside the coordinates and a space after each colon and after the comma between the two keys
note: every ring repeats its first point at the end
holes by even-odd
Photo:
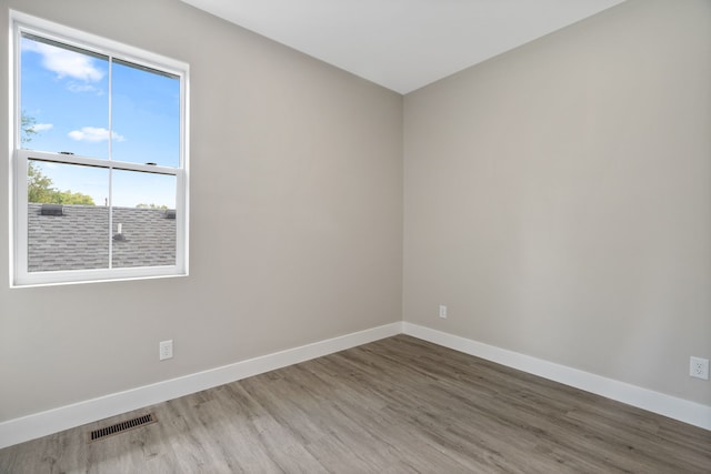
{"type": "Polygon", "coordinates": [[[190,276],[9,290],[0,252],[0,421],[401,320],[401,95],[178,0],[0,6],[190,63],[192,107],[190,276]]]}

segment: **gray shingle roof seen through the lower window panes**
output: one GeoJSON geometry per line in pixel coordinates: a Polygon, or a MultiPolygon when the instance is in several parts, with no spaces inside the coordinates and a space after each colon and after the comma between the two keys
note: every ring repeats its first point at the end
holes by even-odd
{"type": "Polygon", "coordinates": [[[64,205],[64,215],[41,215],[42,204],[28,205],[28,271],[107,269],[113,239],[113,268],[176,264],[176,220],[160,209],[64,205]]]}

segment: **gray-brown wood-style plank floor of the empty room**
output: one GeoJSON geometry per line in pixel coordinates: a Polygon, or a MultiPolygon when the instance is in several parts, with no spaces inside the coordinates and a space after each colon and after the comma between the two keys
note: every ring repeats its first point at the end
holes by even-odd
{"type": "Polygon", "coordinates": [[[711,473],[711,432],[399,335],[1,450],[0,472],[711,473]]]}

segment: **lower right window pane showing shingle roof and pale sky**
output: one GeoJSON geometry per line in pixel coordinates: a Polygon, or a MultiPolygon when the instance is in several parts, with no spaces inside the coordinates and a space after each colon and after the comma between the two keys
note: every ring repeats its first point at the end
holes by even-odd
{"type": "Polygon", "coordinates": [[[172,175],[113,171],[113,268],[176,264],[176,185],[172,175]]]}

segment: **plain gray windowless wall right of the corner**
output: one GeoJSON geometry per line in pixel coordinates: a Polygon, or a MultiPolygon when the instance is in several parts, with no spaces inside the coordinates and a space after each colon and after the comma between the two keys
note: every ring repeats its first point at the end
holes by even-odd
{"type": "Polygon", "coordinates": [[[408,94],[404,320],[711,405],[710,84],[632,0],[408,94]]]}

